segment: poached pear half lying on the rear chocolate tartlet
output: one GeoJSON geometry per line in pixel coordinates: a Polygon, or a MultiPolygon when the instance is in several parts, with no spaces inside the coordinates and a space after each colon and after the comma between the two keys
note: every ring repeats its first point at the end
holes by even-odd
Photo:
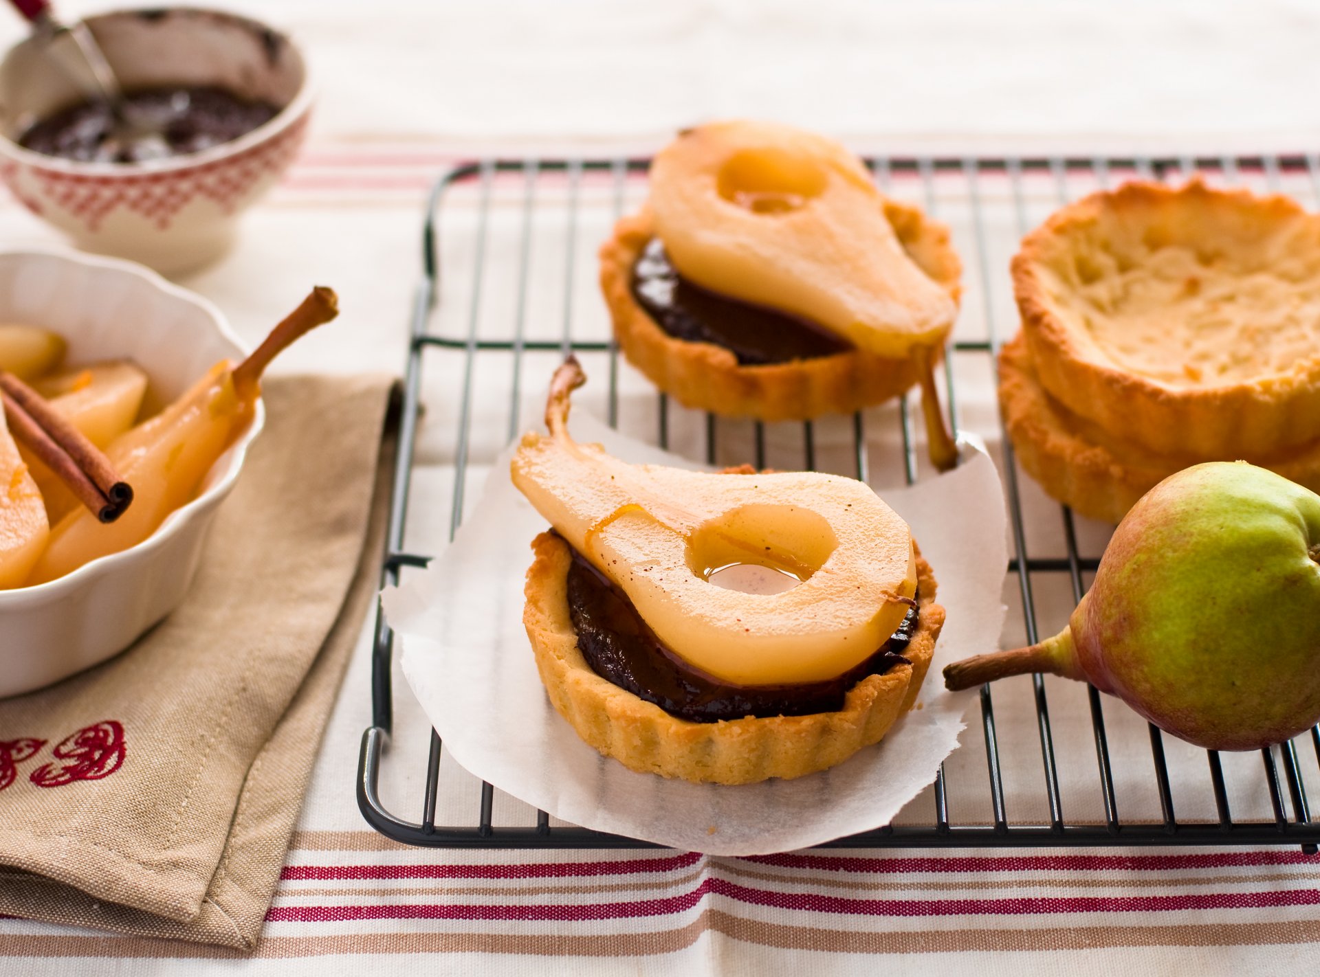
{"type": "Polygon", "coordinates": [[[685,278],[879,356],[939,347],[957,315],[903,249],[866,167],[822,136],[751,121],[689,129],[656,156],[649,207],[685,278]]]}

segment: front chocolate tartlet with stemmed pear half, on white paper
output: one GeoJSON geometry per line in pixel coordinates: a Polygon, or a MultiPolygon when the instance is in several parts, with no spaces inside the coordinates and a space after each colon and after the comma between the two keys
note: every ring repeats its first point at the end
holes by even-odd
{"type": "Polygon", "coordinates": [[[801,777],[878,742],[944,625],[907,523],[853,479],[630,465],[578,444],[581,382],[570,359],[550,436],[525,435],[512,461],[553,526],[532,543],[523,621],[556,711],[624,766],[694,782],[801,777]],[[733,570],[779,583],[717,579],[733,570]]]}

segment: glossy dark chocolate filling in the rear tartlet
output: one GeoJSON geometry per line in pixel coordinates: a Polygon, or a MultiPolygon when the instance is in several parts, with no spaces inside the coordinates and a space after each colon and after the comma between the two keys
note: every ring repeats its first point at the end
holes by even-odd
{"type": "Polygon", "coordinates": [[[853,345],[822,326],[693,285],[652,237],[632,266],[632,297],[675,339],[713,343],[743,367],[814,360],[853,345]]]}

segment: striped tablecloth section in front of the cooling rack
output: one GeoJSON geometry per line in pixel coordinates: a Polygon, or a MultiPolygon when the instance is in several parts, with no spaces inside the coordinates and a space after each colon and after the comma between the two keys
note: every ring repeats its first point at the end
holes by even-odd
{"type": "Polygon", "coordinates": [[[1290,850],[407,850],[301,831],[249,959],[7,920],[7,974],[1315,972],[1320,891],[1290,850]],[[902,957],[902,960],[899,959],[902,957]],[[125,961],[132,961],[128,966],[125,961]],[[407,961],[407,962],[405,962],[407,961]],[[119,969],[119,968],[124,969],[119,969]]]}

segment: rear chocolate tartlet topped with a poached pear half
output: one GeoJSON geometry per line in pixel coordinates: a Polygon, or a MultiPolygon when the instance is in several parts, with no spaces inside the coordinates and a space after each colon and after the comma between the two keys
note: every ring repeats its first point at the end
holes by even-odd
{"type": "Polygon", "coordinates": [[[961,272],[948,228],[880,195],[857,157],[768,123],[681,133],[652,163],[645,206],[601,248],[630,363],[688,407],[762,421],[850,413],[920,382],[961,272]],[[642,281],[648,260],[665,273],[642,281]],[[661,311],[684,290],[723,307],[676,334],[661,311]],[[721,332],[744,315],[766,318],[751,351],[721,332]],[[824,341],[784,341],[799,331],[824,341]]]}

